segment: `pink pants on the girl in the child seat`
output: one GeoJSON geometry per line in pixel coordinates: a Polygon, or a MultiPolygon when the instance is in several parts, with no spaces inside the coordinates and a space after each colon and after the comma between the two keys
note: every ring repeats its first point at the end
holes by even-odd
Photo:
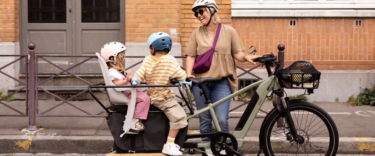
{"type": "MultiPolygon", "coordinates": [[[[126,84],[130,85],[130,83],[126,84]]],[[[131,94],[130,91],[123,91],[123,94],[130,100],[131,94]]],[[[144,92],[137,91],[137,96],[135,100],[135,111],[134,118],[137,119],[147,119],[148,109],[150,108],[150,97],[144,92]]]]}

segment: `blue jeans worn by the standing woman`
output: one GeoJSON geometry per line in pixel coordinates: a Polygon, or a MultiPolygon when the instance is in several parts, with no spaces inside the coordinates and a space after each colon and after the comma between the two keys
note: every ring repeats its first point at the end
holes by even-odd
{"type": "MultiPolygon", "coordinates": [[[[207,82],[204,85],[204,88],[206,89],[207,96],[208,98],[210,98],[211,103],[215,103],[216,101],[219,101],[222,98],[225,98],[228,95],[232,94],[227,78],[222,78],[221,80],[207,82]]],[[[192,92],[193,92],[196,107],[198,110],[207,106],[207,104],[204,104],[206,101],[204,98],[204,95],[202,94],[202,96],[199,96],[199,92],[201,91],[202,90],[197,86],[192,87],[192,92]]],[[[219,126],[221,130],[226,131],[226,132],[229,132],[228,119],[229,119],[230,103],[231,103],[231,100],[228,100],[213,108],[216,118],[219,121],[219,126]]],[[[200,128],[201,134],[212,131],[212,118],[211,118],[210,111],[205,111],[204,113],[199,114],[199,128],[200,128]]]]}

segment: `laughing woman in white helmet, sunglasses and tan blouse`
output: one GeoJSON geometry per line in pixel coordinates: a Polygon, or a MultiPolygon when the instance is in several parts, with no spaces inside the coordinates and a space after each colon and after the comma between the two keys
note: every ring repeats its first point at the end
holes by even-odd
{"type": "MultiPolygon", "coordinates": [[[[261,56],[245,54],[237,31],[233,27],[221,24],[210,68],[200,74],[197,74],[196,71],[193,72],[196,56],[204,54],[213,47],[220,18],[216,13],[217,5],[214,0],[197,0],[193,4],[192,11],[202,26],[192,32],[187,43],[185,50],[185,55],[187,55],[186,73],[187,77],[214,77],[217,80],[204,85],[208,97],[214,103],[237,91],[237,73],[234,59],[255,64],[253,60],[261,56]]],[[[201,89],[193,86],[192,92],[197,109],[204,108],[206,106],[204,96],[199,95],[201,89]]],[[[226,132],[229,131],[229,105],[230,100],[214,108],[220,128],[226,132]]],[[[199,126],[201,133],[212,131],[212,119],[209,111],[199,115],[199,126]]],[[[206,152],[208,152],[208,149],[206,149],[206,152]]]]}

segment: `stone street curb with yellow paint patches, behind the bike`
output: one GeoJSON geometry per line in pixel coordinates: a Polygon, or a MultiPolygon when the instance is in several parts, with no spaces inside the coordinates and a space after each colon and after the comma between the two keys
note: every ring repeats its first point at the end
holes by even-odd
{"type": "MultiPolygon", "coordinates": [[[[0,153],[109,153],[111,136],[0,135],[0,153]]],[[[245,137],[239,149],[244,154],[257,154],[258,137],[245,137]]],[[[375,138],[339,138],[338,154],[374,154],[375,138]]]]}

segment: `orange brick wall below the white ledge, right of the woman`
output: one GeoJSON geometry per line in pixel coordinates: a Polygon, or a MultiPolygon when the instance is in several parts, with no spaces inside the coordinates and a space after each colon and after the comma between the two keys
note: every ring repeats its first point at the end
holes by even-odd
{"type": "MultiPolygon", "coordinates": [[[[375,69],[375,19],[362,19],[355,26],[350,18],[232,19],[242,43],[254,45],[258,55],[276,53],[279,43],[285,45],[285,64],[306,60],[320,70],[375,69]]],[[[237,63],[250,68],[248,63],[237,63]]]]}

